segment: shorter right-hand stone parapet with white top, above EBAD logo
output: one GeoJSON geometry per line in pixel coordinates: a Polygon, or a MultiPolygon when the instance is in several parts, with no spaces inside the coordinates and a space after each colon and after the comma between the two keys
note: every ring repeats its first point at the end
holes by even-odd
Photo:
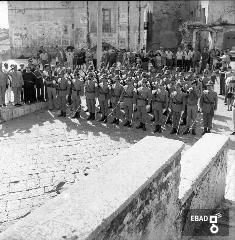
{"type": "Polygon", "coordinates": [[[205,134],[182,155],[179,219],[184,239],[189,239],[184,235],[193,235],[201,224],[190,221],[190,210],[208,212],[208,209],[215,209],[224,200],[228,144],[227,136],[205,134]]]}

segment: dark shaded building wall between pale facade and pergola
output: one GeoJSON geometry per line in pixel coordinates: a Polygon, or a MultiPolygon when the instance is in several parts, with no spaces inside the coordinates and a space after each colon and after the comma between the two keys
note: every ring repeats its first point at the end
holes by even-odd
{"type": "Polygon", "coordinates": [[[179,27],[187,21],[203,21],[201,1],[151,1],[152,20],[148,45],[174,49],[181,44],[179,27]]]}

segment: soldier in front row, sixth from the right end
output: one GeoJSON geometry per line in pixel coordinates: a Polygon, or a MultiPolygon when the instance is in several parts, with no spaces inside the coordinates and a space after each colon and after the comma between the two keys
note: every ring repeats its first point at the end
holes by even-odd
{"type": "Polygon", "coordinates": [[[123,107],[125,112],[125,123],[123,126],[131,127],[133,115],[133,96],[133,81],[132,78],[128,77],[126,80],[126,85],[123,87],[123,91],[120,97],[121,101],[123,100],[123,107]]]}

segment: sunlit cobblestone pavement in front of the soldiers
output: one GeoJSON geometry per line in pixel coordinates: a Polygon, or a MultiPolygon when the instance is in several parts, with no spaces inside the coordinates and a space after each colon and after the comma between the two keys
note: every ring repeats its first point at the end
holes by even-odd
{"type": "MultiPolygon", "coordinates": [[[[143,132],[135,127],[128,129],[121,125],[87,122],[85,116],[82,113],[81,120],[61,119],[55,112],[40,111],[0,125],[0,222],[4,222],[0,224],[0,232],[57,195],[62,186],[91,174],[120,150],[146,135],[154,135],[150,125],[143,132]]],[[[219,96],[213,132],[229,135],[231,116],[232,112],[227,111],[223,97],[219,96]]],[[[159,136],[185,142],[186,150],[201,137],[202,118],[199,115],[197,136],[171,136],[170,127],[166,128],[167,131],[159,136]]],[[[183,130],[184,127],[181,133],[183,130]]],[[[231,200],[234,200],[234,142],[232,136],[226,189],[226,196],[231,200]]]]}

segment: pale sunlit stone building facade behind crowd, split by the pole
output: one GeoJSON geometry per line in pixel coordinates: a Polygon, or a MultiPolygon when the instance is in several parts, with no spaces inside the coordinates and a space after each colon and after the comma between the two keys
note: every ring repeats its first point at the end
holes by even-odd
{"type": "MultiPolygon", "coordinates": [[[[144,1],[102,1],[103,42],[142,47],[146,6],[144,1]]],[[[41,45],[87,47],[87,33],[91,47],[96,45],[97,1],[8,1],[8,12],[15,57],[35,54],[41,45]]]]}

